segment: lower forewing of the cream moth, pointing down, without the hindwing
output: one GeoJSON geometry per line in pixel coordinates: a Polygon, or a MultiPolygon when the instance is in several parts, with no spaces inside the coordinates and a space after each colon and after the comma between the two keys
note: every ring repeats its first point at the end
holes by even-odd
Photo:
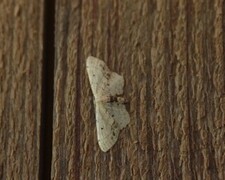
{"type": "Polygon", "coordinates": [[[105,103],[96,103],[96,126],[98,144],[102,151],[108,151],[117,141],[120,127],[110,116],[105,103]]]}

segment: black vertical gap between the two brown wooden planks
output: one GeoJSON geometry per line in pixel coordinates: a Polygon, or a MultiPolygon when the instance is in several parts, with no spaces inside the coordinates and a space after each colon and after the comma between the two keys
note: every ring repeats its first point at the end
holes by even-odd
{"type": "Polygon", "coordinates": [[[55,0],[45,1],[43,14],[42,100],[40,125],[39,179],[51,179],[55,0]]]}

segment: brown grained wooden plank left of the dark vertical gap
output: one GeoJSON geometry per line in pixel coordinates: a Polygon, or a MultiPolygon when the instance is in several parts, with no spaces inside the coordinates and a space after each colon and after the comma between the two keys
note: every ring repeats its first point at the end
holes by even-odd
{"type": "Polygon", "coordinates": [[[0,179],[38,179],[43,2],[0,3],[0,179]]]}

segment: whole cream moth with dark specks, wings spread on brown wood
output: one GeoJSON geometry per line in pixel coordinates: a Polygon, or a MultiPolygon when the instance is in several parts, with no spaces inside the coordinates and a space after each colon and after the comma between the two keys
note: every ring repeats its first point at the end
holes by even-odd
{"type": "Polygon", "coordinates": [[[98,144],[106,152],[116,143],[120,130],[130,122],[125,100],[119,96],[123,94],[124,79],[92,56],[87,58],[87,72],[95,97],[98,144]]]}

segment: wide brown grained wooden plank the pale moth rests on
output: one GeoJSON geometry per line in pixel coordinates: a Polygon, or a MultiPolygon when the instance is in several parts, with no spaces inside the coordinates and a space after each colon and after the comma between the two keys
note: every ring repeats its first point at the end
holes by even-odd
{"type": "Polygon", "coordinates": [[[56,1],[53,179],[223,179],[222,1],[56,1]],[[85,61],[125,78],[131,123],[97,144],[85,61]]]}

